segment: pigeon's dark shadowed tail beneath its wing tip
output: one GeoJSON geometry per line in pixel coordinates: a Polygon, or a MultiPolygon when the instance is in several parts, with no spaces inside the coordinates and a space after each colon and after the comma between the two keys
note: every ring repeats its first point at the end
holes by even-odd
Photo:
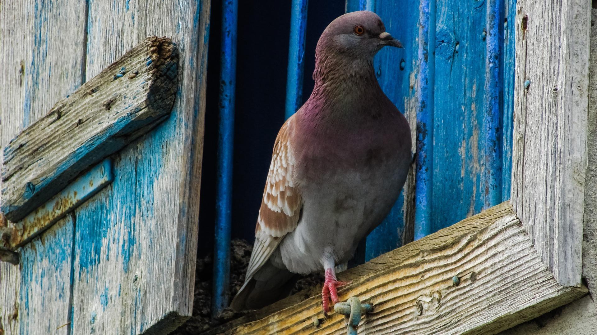
{"type": "Polygon", "coordinates": [[[245,284],[232,299],[230,308],[238,312],[265,307],[287,297],[296,280],[295,274],[268,261],[252,278],[245,280],[245,284]]]}

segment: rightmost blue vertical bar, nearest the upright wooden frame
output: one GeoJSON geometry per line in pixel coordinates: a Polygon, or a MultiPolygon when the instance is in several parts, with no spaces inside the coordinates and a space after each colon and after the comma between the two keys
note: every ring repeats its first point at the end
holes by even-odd
{"type": "Polygon", "coordinates": [[[487,56],[485,57],[485,169],[483,176],[483,208],[501,202],[501,111],[503,106],[500,63],[503,46],[504,0],[487,2],[487,56]]]}

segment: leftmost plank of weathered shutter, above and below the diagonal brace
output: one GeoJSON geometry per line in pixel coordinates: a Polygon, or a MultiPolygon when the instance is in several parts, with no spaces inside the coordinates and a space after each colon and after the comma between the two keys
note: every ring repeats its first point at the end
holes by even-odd
{"type": "MultiPolygon", "coordinates": [[[[70,0],[0,2],[0,45],[10,45],[0,50],[4,148],[81,85],[85,4],[70,0]]],[[[70,314],[72,225],[69,217],[64,218],[46,231],[47,237],[21,248],[20,266],[0,262],[4,334],[69,334],[68,327],[59,327],[70,314]]]]}

